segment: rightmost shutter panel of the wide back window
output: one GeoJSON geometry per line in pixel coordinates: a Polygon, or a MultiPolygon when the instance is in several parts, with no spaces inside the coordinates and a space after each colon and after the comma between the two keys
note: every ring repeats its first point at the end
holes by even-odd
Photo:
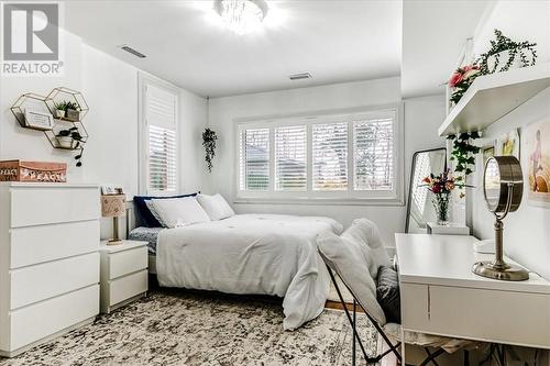
{"type": "Polygon", "coordinates": [[[394,118],[353,122],[355,190],[393,190],[394,118]]]}

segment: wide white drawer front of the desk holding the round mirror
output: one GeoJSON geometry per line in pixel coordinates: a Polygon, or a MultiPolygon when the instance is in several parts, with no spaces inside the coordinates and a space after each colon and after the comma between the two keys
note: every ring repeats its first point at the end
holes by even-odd
{"type": "Polygon", "coordinates": [[[430,325],[438,333],[550,347],[550,296],[430,286],[430,325]]]}

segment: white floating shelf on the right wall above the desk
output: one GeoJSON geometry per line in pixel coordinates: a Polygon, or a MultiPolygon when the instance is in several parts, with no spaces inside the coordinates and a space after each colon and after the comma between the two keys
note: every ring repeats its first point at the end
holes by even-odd
{"type": "Polygon", "coordinates": [[[480,76],[446,118],[439,135],[485,130],[548,87],[548,63],[480,76]]]}

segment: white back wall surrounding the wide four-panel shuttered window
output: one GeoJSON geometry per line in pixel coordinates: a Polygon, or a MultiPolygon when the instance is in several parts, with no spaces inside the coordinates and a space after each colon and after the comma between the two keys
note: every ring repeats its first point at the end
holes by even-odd
{"type": "MultiPolygon", "coordinates": [[[[205,188],[230,200],[235,196],[234,120],[286,115],[400,102],[399,78],[346,82],[302,89],[262,92],[210,100],[209,126],[219,136],[215,167],[207,174],[205,188]]],[[[443,117],[442,97],[427,97],[405,102],[405,160],[408,177],[413,151],[440,146],[437,129],[443,117]],[[409,137],[409,135],[411,137],[409,137]]],[[[405,226],[405,206],[341,204],[256,204],[235,203],[238,212],[273,212],[331,217],[344,225],[355,218],[376,222],[386,245],[394,244],[394,233],[405,226]]]]}

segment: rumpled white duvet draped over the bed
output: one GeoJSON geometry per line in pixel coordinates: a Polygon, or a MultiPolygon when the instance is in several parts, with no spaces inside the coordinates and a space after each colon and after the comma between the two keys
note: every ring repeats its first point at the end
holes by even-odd
{"type": "Polygon", "coordinates": [[[158,282],[166,287],[284,297],[285,330],[318,317],[330,278],[316,236],[340,234],[328,218],[238,214],[163,230],[157,240],[158,282]]]}

